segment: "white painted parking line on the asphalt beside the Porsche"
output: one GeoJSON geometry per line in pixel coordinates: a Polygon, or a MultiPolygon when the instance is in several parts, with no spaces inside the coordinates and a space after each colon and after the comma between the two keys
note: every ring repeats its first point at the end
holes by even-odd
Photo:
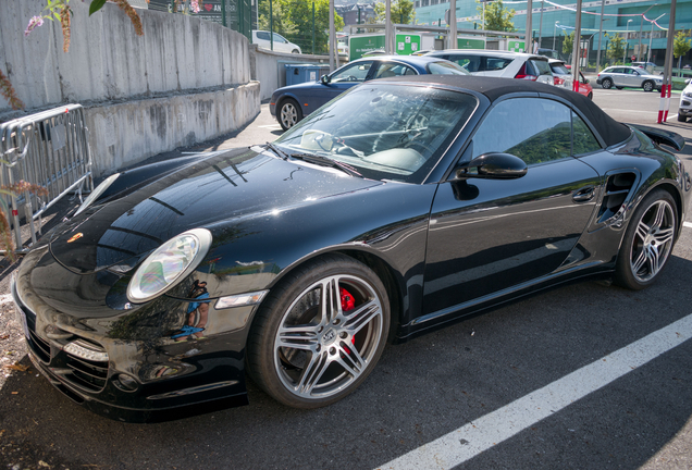
{"type": "Polygon", "coordinates": [[[681,345],[692,314],[378,469],[452,469],[681,345]]]}

